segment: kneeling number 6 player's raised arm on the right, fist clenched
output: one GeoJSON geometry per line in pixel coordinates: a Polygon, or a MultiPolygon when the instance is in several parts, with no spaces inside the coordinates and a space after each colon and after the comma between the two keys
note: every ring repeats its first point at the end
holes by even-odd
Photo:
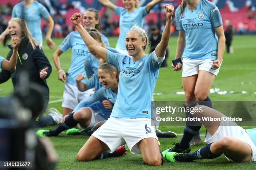
{"type": "Polygon", "coordinates": [[[166,47],[169,44],[172,26],[172,15],[174,13],[174,7],[172,5],[164,5],[164,13],[166,15],[166,25],[162,34],[161,41],[156,46],[155,52],[158,57],[164,57],[166,47]]]}

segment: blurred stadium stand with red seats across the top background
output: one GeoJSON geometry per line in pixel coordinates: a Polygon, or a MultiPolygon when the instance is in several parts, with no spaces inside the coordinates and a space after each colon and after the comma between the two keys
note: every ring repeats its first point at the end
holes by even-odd
{"type": "MultiPolygon", "coordinates": [[[[39,0],[40,2],[44,2],[44,0],[39,0]]],[[[151,0],[140,0],[140,6],[146,5],[151,0]]],[[[178,7],[182,0],[164,0],[162,4],[172,3],[174,7],[178,7]]],[[[230,20],[232,25],[236,28],[237,32],[240,32],[242,29],[243,32],[256,32],[256,1],[255,0],[210,0],[214,2],[220,10],[220,13],[223,18],[223,23],[225,20],[230,20]],[[241,28],[242,27],[242,28],[241,28]]],[[[10,11],[6,10],[6,5],[15,5],[20,0],[1,0],[0,1],[0,22],[3,20],[1,18],[10,19],[10,11]]],[[[52,0],[50,1],[52,8],[55,10],[55,13],[51,15],[54,18],[56,13],[60,14],[64,19],[64,23],[61,25],[63,30],[64,28],[72,26],[69,18],[75,12],[83,13],[85,8],[93,7],[100,11],[100,16],[108,15],[108,22],[110,23],[110,27],[112,30],[118,30],[118,21],[119,16],[115,15],[115,13],[107,13],[106,8],[101,5],[97,0],[52,0]],[[55,2],[55,3],[54,3],[55,2]],[[59,4],[58,4],[59,2],[59,4]],[[58,7],[54,5],[58,4],[58,7]],[[61,5],[60,5],[61,4],[61,5]]],[[[123,6],[122,0],[115,0],[115,4],[117,6],[123,6]]],[[[164,19],[164,13],[161,11],[161,20],[164,19]]],[[[145,23],[157,24],[159,22],[159,6],[156,5],[151,10],[151,13],[148,14],[145,18],[145,23]]],[[[159,25],[164,24],[164,22],[159,23],[159,25]]],[[[174,26],[176,24],[174,23],[174,26]]],[[[224,25],[225,27],[225,25],[224,25]]],[[[41,25],[41,28],[44,28],[44,22],[41,25]]],[[[67,30],[67,29],[66,29],[67,30]]],[[[0,29],[1,31],[1,29],[0,29]]],[[[65,35],[65,34],[64,34],[65,35]]],[[[118,35],[118,32],[113,32],[113,35],[118,35]]]]}

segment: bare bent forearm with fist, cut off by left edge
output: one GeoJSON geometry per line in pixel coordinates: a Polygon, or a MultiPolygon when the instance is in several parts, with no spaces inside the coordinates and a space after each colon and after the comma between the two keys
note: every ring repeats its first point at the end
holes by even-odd
{"type": "Polygon", "coordinates": [[[13,54],[10,57],[10,60],[3,60],[2,68],[4,70],[13,71],[17,64],[17,55],[18,55],[18,46],[20,45],[21,40],[18,37],[13,38],[13,54]]]}

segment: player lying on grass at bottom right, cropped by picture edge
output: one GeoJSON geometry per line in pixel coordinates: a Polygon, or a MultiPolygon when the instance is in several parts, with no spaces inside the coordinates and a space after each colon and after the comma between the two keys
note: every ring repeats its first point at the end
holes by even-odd
{"type": "Polygon", "coordinates": [[[224,153],[231,162],[256,161],[256,128],[244,130],[233,121],[224,121],[222,113],[207,107],[201,107],[202,112],[195,112],[194,117],[212,117],[221,121],[200,121],[207,129],[205,143],[207,145],[194,153],[163,152],[169,162],[189,162],[199,159],[213,159],[224,153]]]}

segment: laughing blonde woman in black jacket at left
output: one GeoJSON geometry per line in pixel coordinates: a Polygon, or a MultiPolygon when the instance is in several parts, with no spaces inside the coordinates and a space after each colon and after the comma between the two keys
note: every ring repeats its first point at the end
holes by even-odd
{"type": "Polygon", "coordinates": [[[42,90],[44,91],[44,110],[46,110],[49,101],[49,87],[46,84],[46,78],[51,74],[51,64],[44,55],[39,42],[31,36],[25,20],[12,18],[8,23],[8,31],[14,42],[17,37],[21,39],[21,42],[18,51],[15,50],[17,47],[16,43],[13,44],[13,47],[10,47],[11,50],[6,59],[10,60],[13,53],[15,54],[17,52],[17,65],[13,71],[2,70],[2,72],[0,72],[0,83],[5,82],[12,77],[13,87],[14,90],[16,90],[20,72],[26,69],[29,74],[28,77],[30,82],[41,85],[42,90]]]}

